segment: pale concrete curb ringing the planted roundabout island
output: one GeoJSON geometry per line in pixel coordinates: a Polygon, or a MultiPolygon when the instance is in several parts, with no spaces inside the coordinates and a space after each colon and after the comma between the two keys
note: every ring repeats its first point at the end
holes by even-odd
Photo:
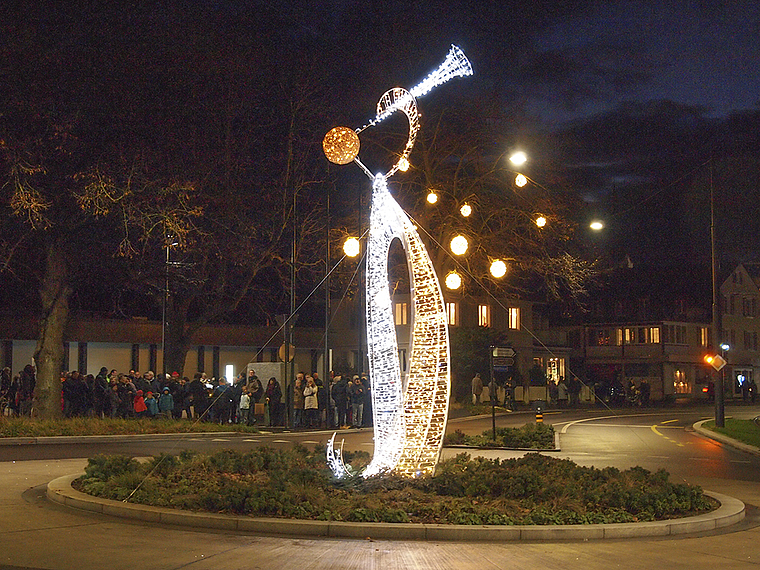
{"type": "Polygon", "coordinates": [[[385,540],[432,541],[518,541],[518,540],[588,540],[604,538],[638,538],[672,536],[705,532],[730,526],[744,519],[744,503],[719,493],[705,492],[720,502],[713,512],[666,521],[599,525],[441,525],[404,523],[351,523],[196,513],[163,507],[150,507],[101,499],[80,493],[71,483],[81,474],[54,479],[47,486],[53,502],[105,515],[136,521],[194,528],[213,528],[290,536],[339,538],[373,538],[385,540]]]}

